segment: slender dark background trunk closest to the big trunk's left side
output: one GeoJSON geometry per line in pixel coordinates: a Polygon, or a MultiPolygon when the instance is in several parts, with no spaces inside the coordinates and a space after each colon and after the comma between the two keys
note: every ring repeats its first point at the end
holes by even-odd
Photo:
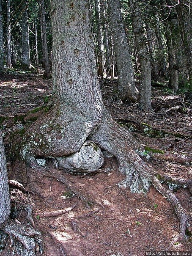
{"type": "Polygon", "coordinates": [[[43,55],[44,55],[44,76],[50,77],[50,68],[49,68],[49,54],[47,47],[47,32],[46,32],[46,21],[45,21],[45,6],[44,0],[41,0],[41,22],[42,22],[42,33],[43,33],[43,55]]]}

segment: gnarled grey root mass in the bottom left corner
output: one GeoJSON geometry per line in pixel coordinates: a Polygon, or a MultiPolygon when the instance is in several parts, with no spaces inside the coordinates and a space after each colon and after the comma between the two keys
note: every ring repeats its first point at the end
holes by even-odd
{"type": "Polygon", "coordinates": [[[19,255],[35,256],[36,251],[42,254],[44,248],[42,235],[41,232],[36,231],[33,227],[17,224],[9,220],[2,230],[11,237],[11,247],[13,247],[14,238],[22,243],[22,248],[19,246],[19,255]]]}

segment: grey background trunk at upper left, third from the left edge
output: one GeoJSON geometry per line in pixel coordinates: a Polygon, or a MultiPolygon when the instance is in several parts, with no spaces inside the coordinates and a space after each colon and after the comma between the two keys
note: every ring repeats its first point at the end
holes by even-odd
{"type": "MultiPolygon", "coordinates": [[[[23,2],[23,8],[27,5],[27,0],[23,2]]],[[[29,49],[29,26],[27,8],[22,13],[22,57],[21,68],[30,69],[30,49],[29,49]]]]}

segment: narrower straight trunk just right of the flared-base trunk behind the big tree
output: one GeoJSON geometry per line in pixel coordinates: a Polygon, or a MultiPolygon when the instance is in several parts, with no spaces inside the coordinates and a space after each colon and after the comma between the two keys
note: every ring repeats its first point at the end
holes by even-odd
{"type": "Polygon", "coordinates": [[[137,47],[137,54],[140,63],[140,96],[138,107],[140,110],[151,111],[151,61],[146,47],[146,39],[143,29],[143,21],[139,12],[137,0],[129,0],[129,6],[132,12],[132,28],[137,47]]]}

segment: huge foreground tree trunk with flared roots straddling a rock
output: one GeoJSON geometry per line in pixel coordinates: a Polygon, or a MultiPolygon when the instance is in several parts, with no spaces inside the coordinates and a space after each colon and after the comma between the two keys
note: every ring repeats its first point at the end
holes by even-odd
{"type": "MultiPolygon", "coordinates": [[[[130,187],[132,192],[147,191],[150,169],[134,152],[138,147],[136,141],[112,120],[102,102],[88,2],[52,0],[51,6],[52,104],[42,110],[43,118],[27,129],[22,141],[15,141],[14,156],[38,167],[37,156],[69,155],[79,151],[86,139],[93,140],[118,159],[119,171],[126,175],[123,186],[130,187]]],[[[16,175],[22,182],[25,166],[21,167],[22,172],[17,168],[16,175]]]]}

